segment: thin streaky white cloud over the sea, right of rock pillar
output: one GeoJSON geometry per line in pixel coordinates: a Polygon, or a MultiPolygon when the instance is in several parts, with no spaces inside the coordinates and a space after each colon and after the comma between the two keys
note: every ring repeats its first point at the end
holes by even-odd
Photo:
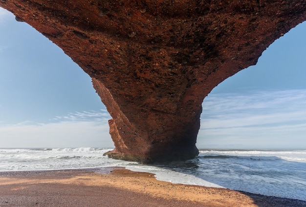
{"type": "Polygon", "coordinates": [[[197,146],[305,147],[306,90],[214,94],[203,102],[197,146]]]}

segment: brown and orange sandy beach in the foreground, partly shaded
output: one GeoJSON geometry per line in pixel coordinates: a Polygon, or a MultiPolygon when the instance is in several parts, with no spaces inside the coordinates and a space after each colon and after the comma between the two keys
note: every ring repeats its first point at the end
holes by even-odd
{"type": "Polygon", "coordinates": [[[306,207],[306,201],[172,184],[124,168],[0,172],[0,207],[306,207]]]}

